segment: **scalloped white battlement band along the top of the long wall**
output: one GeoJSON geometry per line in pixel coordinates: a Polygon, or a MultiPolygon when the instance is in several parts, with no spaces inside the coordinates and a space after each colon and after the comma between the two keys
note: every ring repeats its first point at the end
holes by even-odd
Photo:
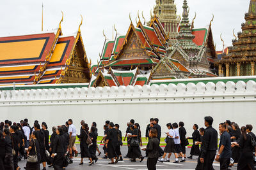
{"type": "Polygon", "coordinates": [[[256,82],[218,81],[120,87],[3,90],[0,106],[256,101],[256,82]]]}

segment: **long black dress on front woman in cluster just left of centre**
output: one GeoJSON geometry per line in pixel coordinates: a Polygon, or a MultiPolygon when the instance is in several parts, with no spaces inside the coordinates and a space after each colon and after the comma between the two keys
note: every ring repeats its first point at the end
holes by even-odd
{"type": "Polygon", "coordinates": [[[118,157],[116,155],[116,146],[118,143],[117,131],[115,128],[109,129],[107,134],[108,139],[108,158],[112,159],[118,157]]]}

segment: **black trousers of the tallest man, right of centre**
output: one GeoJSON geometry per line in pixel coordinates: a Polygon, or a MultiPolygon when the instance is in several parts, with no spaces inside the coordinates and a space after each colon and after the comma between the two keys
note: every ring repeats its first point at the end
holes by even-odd
{"type": "Polygon", "coordinates": [[[205,153],[204,163],[201,163],[200,157],[198,157],[196,170],[212,170],[213,169],[212,164],[215,159],[215,155],[216,155],[215,150],[207,151],[207,153],[205,153]]]}

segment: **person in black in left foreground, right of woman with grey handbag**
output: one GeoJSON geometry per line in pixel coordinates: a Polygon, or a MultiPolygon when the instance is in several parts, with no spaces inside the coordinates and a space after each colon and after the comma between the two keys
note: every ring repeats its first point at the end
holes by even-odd
{"type": "Polygon", "coordinates": [[[59,169],[63,169],[63,163],[64,163],[64,154],[65,154],[65,150],[64,150],[64,138],[62,136],[63,134],[63,128],[62,127],[58,127],[58,129],[56,130],[56,134],[57,136],[54,139],[54,143],[52,145],[52,155],[51,157],[53,157],[53,167],[54,170],[59,170],[59,169]]]}

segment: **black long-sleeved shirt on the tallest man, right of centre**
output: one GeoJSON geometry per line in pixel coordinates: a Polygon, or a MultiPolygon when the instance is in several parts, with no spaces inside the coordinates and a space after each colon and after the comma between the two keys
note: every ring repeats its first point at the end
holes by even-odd
{"type": "Polygon", "coordinates": [[[218,132],[209,126],[205,129],[204,136],[202,138],[202,158],[205,157],[207,151],[214,151],[218,149],[218,132]]]}

